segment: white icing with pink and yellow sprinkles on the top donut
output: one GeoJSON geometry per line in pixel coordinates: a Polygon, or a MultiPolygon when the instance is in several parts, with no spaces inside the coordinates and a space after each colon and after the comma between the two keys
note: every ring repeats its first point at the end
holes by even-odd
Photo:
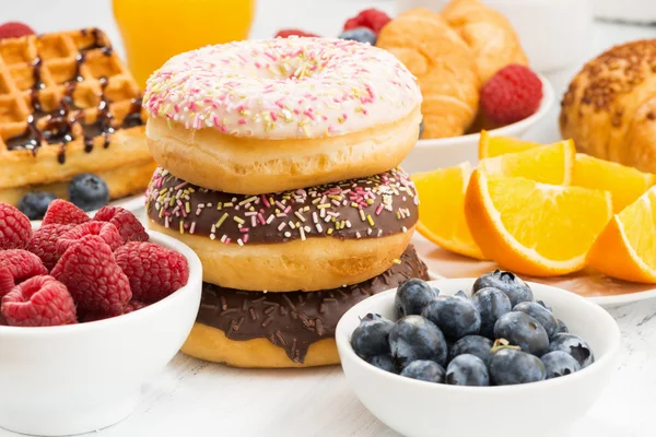
{"type": "Polygon", "coordinates": [[[276,38],[208,46],[169,59],[143,106],[186,129],[237,137],[318,138],[356,132],[421,104],[394,55],[345,39],[276,38]]]}

